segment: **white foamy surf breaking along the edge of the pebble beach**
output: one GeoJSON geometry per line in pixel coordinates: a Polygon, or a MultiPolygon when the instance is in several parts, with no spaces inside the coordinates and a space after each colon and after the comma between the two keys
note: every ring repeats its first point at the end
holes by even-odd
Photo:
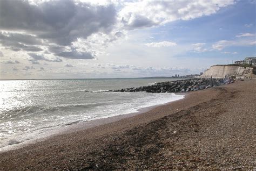
{"type": "MultiPolygon", "coordinates": [[[[114,93],[114,92],[109,92],[114,93]]],[[[10,146],[18,146],[19,144],[24,144],[26,141],[31,141],[33,139],[44,138],[51,136],[52,130],[59,129],[60,127],[69,126],[72,124],[77,124],[80,122],[85,122],[89,120],[113,117],[117,115],[125,115],[128,113],[138,112],[139,109],[147,108],[149,106],[160,105],[169,103],[172,101],[177,101],[184,98],[184,95],[176,95],[173,93],[162,93],[162,94],[148,94],[147,92],[128,92],[129,94],[140,94],[143,95],[140,98],[126,99],[119,104],[108,104],[108,105],[96,105],[94,111],[90,111],[89,115],[75,115],[70,113],[70,115],[61,117],[59,119],[53,120],[52,125],[45,125],[44,127],[35,128],[30,131],[26,131],[22,134],[16,134],[10,136],[0,143],[0,152],[10,149],[10,146]],[[56,123],[55,123],[56,122],[56,123]],[[9,147],[8,147],[9,146],[9,147]]],[[[95,103],[84,103],[84,104],[74,104],[72,106],[79,105],[90,105],[95,103]]],[[[64,105],[66,106],[66,105],[64,105]]],[[[70,105],[69,105],[70,106],[70,105]]]]}

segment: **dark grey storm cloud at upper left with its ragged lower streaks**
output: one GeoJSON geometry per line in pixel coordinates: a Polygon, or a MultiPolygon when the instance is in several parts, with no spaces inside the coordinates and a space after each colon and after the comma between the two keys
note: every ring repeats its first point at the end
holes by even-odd
{"type": "MultiPolygon", "coordinates": [[[[0,30],[18,31],[0,35],[2,46],[13,51],[42,51],[39,45],[71,46],[77,38],[86,39],[93,33],[110,33],[116,24],[113,5],[100,6],[70,0],[42,2],[0,1],[0,30]],[[31,34],[31,35],[30,35],[31,34]]],[[[49,52],[56,53],[49,49],[49,52]]],[[[93,59],[91,52],[58,52],[73,59],[93,59]],[[70,55],[75,55],[70,56],[70,55]]]]}

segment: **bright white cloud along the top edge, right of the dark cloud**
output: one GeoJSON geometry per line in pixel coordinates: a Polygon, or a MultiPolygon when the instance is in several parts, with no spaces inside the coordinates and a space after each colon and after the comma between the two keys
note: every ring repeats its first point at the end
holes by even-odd
{"type": "Polygon", "coordinates": [[[227,1],[132,1],[124,3],[119,20],[128,29],[163,25],[175,20],[190,20],[209,16],[234,4],[227,1]]]}

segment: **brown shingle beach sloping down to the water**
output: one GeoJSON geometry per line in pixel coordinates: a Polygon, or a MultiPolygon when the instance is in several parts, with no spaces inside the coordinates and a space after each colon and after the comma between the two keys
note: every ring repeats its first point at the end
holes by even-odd
{"type": "Polygon", "coordinates": [[[0,153],[1,170],[256,168],[256,80],[0,153]]]}

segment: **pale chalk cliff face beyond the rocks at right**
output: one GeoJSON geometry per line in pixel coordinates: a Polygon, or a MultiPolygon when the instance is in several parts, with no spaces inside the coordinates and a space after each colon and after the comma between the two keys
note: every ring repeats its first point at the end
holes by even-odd
{"type": "Polygon", "coordinates": [[[245,77],[250,77],[253,68],[250,67],[239,67],[239,66],[226,66],[226,65],[218,65],[218,66],[211,66],[207,69],[203,75],[200,77],[202,78],[224,78],[225,76],[235,76],[241,77],[242,79],[245,77]]]}

